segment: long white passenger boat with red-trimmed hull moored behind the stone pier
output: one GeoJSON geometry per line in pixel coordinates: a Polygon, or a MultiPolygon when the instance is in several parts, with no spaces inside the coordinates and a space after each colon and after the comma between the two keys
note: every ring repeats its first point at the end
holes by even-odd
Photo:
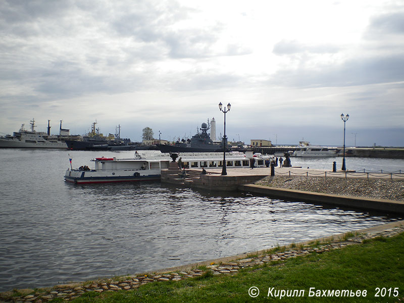
{"type": "MultiPolygon", "coordinates": [[[[188,169],[217,168],[219,171],[223,165],[223,153],[182,153],[179,157],[182,167],[188,169]]],[[[255,159],[255,167],[264,167],[265,160],[269,159],[261,154],[226,153],[226,167],[249,168],[251,158],[255,159]]],[[[160,180],[161,170],[168,169],[172,159],[169,154],[145,156],[135,153],[135,157],[129,159],[102,157],[91,161],[95,162],[94,169],[68,169],[65,180],[79,184],[160,180]]]]}

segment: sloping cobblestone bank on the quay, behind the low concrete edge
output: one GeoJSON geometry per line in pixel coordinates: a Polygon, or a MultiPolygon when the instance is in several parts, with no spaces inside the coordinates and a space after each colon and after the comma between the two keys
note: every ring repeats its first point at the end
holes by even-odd
{"type": "Polygon", "coordinates": [[[255,184],[329,194],[404,201],[404,180],[397,179],[268,176],[255,184]]]}

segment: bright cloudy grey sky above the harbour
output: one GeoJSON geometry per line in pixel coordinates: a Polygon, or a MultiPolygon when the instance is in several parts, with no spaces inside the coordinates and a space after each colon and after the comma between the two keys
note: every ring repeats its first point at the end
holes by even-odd
{"type": "Polygon", "coordinates": [[[404,2],[0,0],[0,135],[404,146],[404,2]]]}

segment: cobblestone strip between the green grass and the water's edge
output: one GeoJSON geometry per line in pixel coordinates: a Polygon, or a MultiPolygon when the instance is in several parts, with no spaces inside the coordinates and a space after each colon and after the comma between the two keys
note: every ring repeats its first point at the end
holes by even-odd
{"type": "MultiPolygon", "coordinates": [[[[12,301],[16,303],[42,303],[54,298],[62,298],[65,301],[69,301],[89,291],[102,293],[105,291],[135,290],[139,286],[147,283],[156,283],[160,281],[170,280],[180,281],[183,279],[202,276],[207,272],[211,272],[213,275],[231,275],[238,273],[238,271],[242,268],[260,266],[270,262],[282,262],[289,258],[306,256],[308,254],[321,254],[324,251],[343,248],[347,245],[360,244],[365,239],[380,236],[392,237],[402,232],[404,232],[404,226],[398,226],[385,230],[375,229],[373,231],[369,231],[366,234],[359,234],[349,238],[342,237],[341,240],[318,243],[318,245],[314,247],[304,244],[293,245],[294,247],[279,247],[278,252],[268,252],[268,254],[260,255],[258,257],[234,260],[232,262],[225,262],[220,264],[212,263],[211,265],[207,266],[207,270],[194,268],[192,270],[168,272],[164,274],[148,273],[142,275],[124,276],[116,280],[105,279],[87,283],[65,284],[47,289],[20,289],[8,291],[0,293],[0,300],[4,302],[12,301]]],[[[316,241],[312,241],[312,243],[314,244],[316,243],[316,241]]]]}

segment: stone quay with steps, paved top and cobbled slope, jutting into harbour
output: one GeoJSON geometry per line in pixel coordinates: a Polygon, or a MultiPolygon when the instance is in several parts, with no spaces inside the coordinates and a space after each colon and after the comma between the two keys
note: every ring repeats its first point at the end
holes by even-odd
{"type": "Polygon", "coordinates": [[[293,167],[276,168],[273,177],[269,176],[270,168],[231,168],[227,169],[226,176],[221,175],[221,169],[207,169],[206,175],[200,172],[188,170],[187,178],[181,178],[178,169],[162,171],[162,182],[404,214],[404,174],[333,173],[293,167]],[[273,185],[275,180],[278,182],[273,185]],[[294,183],[295,186],[288,187],[288,183],[294,183]],[[330,192],[333,187],[334,191],[330,192]]]}

